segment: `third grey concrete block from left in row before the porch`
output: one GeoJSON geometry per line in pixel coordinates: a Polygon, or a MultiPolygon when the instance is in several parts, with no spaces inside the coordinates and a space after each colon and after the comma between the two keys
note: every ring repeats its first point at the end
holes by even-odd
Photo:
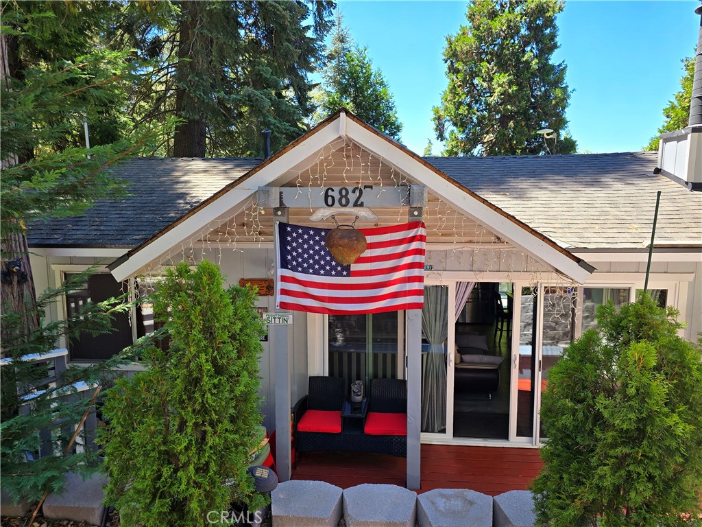
{"type": "Polygon", "coordinates": [[[492,497],[465,488],[437,488],[417,497],[421,527],[492,527],[492,497]]]}

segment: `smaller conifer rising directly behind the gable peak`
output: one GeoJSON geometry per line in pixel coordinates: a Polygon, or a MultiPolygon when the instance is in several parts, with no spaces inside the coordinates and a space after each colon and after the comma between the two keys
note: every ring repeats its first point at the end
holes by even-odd
{"type": "Polygon", "coordinates": [[[347,108],[367,124],[399,141],[402,123],[397,118],[395,99],[379,69],[373,70],[367,48],[354,44],[340,13],[322,72],[324,88],[319,120],[339,108],[347,108]]]}

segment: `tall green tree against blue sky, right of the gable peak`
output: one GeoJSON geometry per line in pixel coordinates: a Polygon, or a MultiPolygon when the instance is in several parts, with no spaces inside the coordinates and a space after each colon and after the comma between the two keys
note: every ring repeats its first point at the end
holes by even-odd
{"type": "Polygon", "coordinates": [[[561,0],[473,0],[468,26],[446,37],[449,85],[433,108],[444,155],[573,153],[565,110],[569,91],[555,18],[561,0]],[[536,134],[553,129],[555,145],[536,134]]]}

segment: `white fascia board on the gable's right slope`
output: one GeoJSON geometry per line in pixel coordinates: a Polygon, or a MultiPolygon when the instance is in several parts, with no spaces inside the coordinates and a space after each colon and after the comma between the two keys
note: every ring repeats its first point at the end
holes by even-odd
{"type": "Polygon", "coordinates": [[[484,223],[501,238],[514,245],[523,247],[534,258],[542,261],[547,266],[553,266],[559,272],[567,275],[578,283],[583,283],[590,276],[590,271],[583,268],[578,262],[569,258],[559,250],[537,236],[529,233],[522,226],[496,212],[486,204],[476,200],[470,194],[457,192],[458,188],[436,174],[423,163],[418,162],[410,155],[400,150],[397,145],[372,134],[363,126],[347,119],[347,132],[350,138],[364,148],[371,150],[376,155],[392,163],[408,176],[415,178],[423,185],[439,194],[442,199],[453,207],[484,223]]]}

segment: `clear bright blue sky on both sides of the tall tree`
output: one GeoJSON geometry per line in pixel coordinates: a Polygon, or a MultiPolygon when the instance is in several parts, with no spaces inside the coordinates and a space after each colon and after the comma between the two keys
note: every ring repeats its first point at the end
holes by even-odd
{"type": "MultiPolygon", "coordinates": [[[[465,1],[340,0],[345,25],[367,46],[395,95],[402,142],[438,154],[432,106],[446,89],[445,37],[465,25],[465,1]]],[[[641,150],[680,90],[684,57],[694,55],[696,0],[569,0],[557,17],[560,48],[574,93],[567,110],[579,152],[641,150]]]]}

